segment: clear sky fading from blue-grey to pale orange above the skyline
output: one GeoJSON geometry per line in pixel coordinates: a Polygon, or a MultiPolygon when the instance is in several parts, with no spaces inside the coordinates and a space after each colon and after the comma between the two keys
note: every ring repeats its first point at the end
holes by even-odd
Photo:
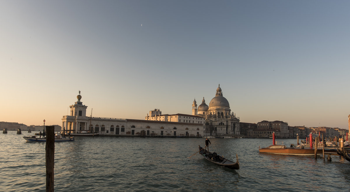
{"type": "Polygon", "coordinates": [[[349,7],[2,0],[0,121],[62,126],[79,90],[94,117],[192,114],[220,84],[240,122],[348,129],[349,7]]]}

